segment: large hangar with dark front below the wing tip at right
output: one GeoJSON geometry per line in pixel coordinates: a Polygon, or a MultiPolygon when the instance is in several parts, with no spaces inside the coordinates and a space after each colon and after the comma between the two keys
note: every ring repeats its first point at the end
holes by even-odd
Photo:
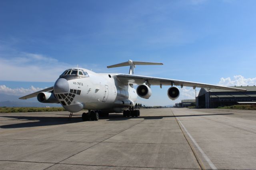
{"type": "MultiPolygon", "coordinates": [[[[236,87],[236,86],[234,86],[236,87]]],[[[217,108],[223,106],[237,105],[238,102],[255,102],[256,101],[256,86],[239,86],[238,88],[246,89],[247,91],[230,91],[220,89],[201,88],[196,97],[196,108],[217,108]]]]}

